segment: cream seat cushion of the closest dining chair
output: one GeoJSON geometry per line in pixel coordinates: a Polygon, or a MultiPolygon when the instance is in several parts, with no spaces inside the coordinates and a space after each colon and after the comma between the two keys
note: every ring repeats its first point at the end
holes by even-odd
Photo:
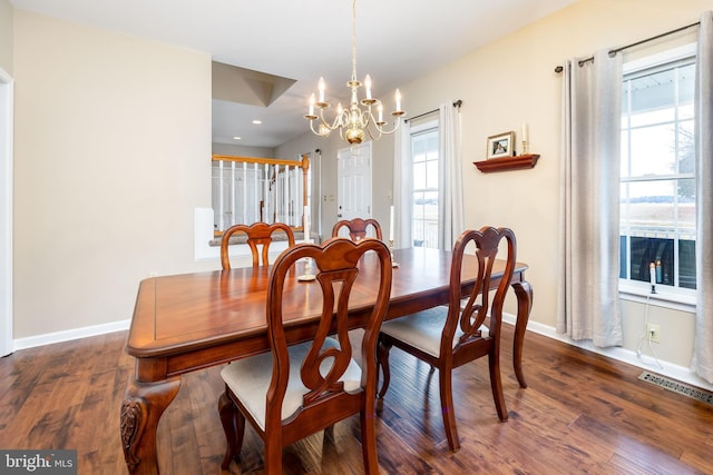
{"type": "MultiPolygon", "coordinates": [[[[300,367],[310,350],[311,343],[290,346],[290,382],[282,404],[282,419],[292,416],[301,406],[302,397],[309,389],[302,384],[300,367]]],[[[339,348],[339,342],[328,338],[323,347],[339,348]]],[[[320,373],[326,375],[331,358],[320,366],[320,373]]],[[[221,370],[221,376],[233,394],[243,403],[261,428],[265,428],[266,395],[272,378],[272,353],[263,353],[250,358],[232,362],[221,370]]],[[[361,390],[361,369],[352,358],[344,375],[344,390],[361,390]]]]}

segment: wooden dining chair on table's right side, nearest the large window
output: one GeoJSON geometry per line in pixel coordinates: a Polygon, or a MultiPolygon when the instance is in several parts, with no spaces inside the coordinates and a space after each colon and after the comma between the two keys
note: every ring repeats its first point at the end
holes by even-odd
{"type": "Polygon", "coordinates": [[[515,258],[515,234],[510,229],[486,226],[480,230],[463,231],[453,246],[448,305],[389,320],[381,327],[379,365],[383,383],[379,399],[389,388],[389,350],[392,346],[430,364],[431,370],[438,369],[443,427],[452,452],[460,448],[452,390],[455,368],[488,356],[490,388],[498,417],[500,420],[508,418],[500,380],[500,326],[515,258]],[[504,240],[507,245],[500,246],[504,240]],[[498,253],[500,247],[507,250],[502,257],[498,253]],[[465,265],[465,258],[470,256],[467,253],[472,250],[477,266],[475,263],[465,265]],[[498,257],[505,258],[505,271],[497,288],[491,290],[492,266],[498,257]],[[469,294],[461,295],[461,281],[466,279],[475,279],[475,286],[469,294]],[[488,315],[490,320],[486,326],[488,315]]]}

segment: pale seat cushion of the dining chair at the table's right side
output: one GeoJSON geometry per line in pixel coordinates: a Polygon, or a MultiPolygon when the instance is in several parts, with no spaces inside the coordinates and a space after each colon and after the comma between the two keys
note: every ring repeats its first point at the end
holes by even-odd
{"type": "MultiPolygon", "coordinates": [[[[439,357],[441,346],[441,334],[448,316],[448,306],[429,308],[406,317],[384,321],[381,325],[381,333],[384,333],[398,340],[401,340],[429,355],[439,357]]],[[[480,327],[481,335],[488,336],[488,327],[480,327]]],[[[458,345],[458,339],[463,335],[460,326],[456,328],[453,345],[458,345]]]]}

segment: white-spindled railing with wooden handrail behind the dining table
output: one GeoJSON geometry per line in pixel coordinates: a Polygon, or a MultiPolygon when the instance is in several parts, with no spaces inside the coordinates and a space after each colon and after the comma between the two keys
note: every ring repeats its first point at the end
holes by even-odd
{"type": "Polygon", "coordinates": [[[285,222],[303,228],[310,159],[214,155],[213,230],[221,235],[236,224],[285,222]]]}

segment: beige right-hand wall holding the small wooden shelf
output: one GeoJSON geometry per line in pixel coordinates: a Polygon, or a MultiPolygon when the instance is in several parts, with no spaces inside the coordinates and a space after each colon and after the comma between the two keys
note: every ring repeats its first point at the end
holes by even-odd
{"type": "MultiPolygon", "coordinates": [[[[530,265],[528,280],[535,289],[531,321],[554,327],[556,321],[556,258],[559,207],[560,76],[554,68],[574,56],[590,56],[602,48],[616,48],[699,20],[711,9],[710,0],[582,0],[533,26],[443,67],[417,81],[400,86],[408,116],[438,107],[440,102],[462,99],[463,189],[466,226],[485,224],[508,226],[518,239],[519,260],[530,265]],[[522,122],[529,126],[530,151],[540,155],[530,170],[482,174],[473,161],[486,158],[488,136],[514,130],[518,136],[522,122]]],[[[309,136],[299,147],[320,147],[324,155],[326,187],[334,187],[335,151],[326,142],[309,136]],[[329,177],[332,177],[331,180],[329,177]]],[[[293,152],[294,145],[280,148],[293,152]]],[[[518,144],[517,149],[520,149],[518,144]]],[[[388,219],[388,208],[380,207],[392,177],[392,140],[374,146],[374,209],[388,219]]],[[[387,205],[388,206],[388,205],[387,205]]],[[[328,220],[331,212],[323,215],[328,220]]],[[[587,285],[587,283],[583,283],[587,285]]],[[[514,298],[508,311],[514,313],[514,298]]],[[[643,330],[644,307],[624,305],[625,345],[636,349],[643,330]]],[[[690,364],[693,346],[691,314],[653,307],[649,320],[662,326],[660,356],[676,365],[690,364]]],[[[647,352],[644,348],[645,353],[647,352]]]]}

